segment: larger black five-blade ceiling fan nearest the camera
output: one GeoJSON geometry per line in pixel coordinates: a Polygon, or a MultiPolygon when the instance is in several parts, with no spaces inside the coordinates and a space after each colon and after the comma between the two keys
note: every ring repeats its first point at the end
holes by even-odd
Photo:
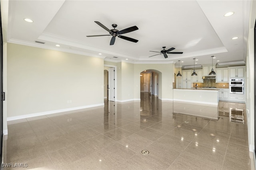
{"type": "Polygon", "coordinates": [[[100,37],[100,36],[109,36],[109,35],[112,35],[112,38],[111,38],[111,41],[110,41],[110,45],[114,45],[115,43],[115,40],[116,40],[116,37],[119,37],[119,38],[122,38],[122,39],[125,39],[127,41],[132,41],[134,43],[137,43],[138,40],[137,39],[133,39],[133,38],[130,38],[130,37],[126,37],[126,36],[123,36],[123,35],[120,35],[120,34],[124,34],[124,33],[129,33],[129,32],[132,32],[132,31],[135,31],[138,29],[137,26],[133,26],[133,27],[129,27],[129,28],[126,28],[126,29],[123,29],[121,31],[117,30],[116,27],[117,25],[116,24],[112,24],[112,27],[114,29],[108,29],[107,27],[105,27],[102,23],[100,23],[99,21],[94,21],[95,23],[97,23],[98,25],[100,25],[103,29],[107,30],[110,34],[108,35],[88,35],[86,37],[100,37]]]}

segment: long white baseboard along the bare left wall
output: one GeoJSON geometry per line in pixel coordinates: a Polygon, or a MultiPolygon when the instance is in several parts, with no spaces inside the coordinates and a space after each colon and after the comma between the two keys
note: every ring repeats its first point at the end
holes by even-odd
{"type": "Polygon", "coordinates": [[[73,110],[78,110],[78,109],[86,109],[86,108],[97,107],[97,106],[104,106],[104,103],[87,105],[87,106],[72,107],[72,108],[67,108],[67,109],[44,111],[44,112],[39,112],[39,113],[27,114],[27,115],[7,117],[7,121],[25,119],[25,118],[29,118],[29,117],[36,117],[36,116],[42,116],[42,115],[50,115],[50,114],[54,114],[54,113],[60,113],[60,112],[65,112],[65,111],[73,111],[73,110]]]}

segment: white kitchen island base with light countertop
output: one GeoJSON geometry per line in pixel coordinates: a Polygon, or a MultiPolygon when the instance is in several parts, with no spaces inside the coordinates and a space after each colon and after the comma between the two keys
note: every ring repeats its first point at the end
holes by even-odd
{"type": "Polygon", "coordinates": [[[219,102],[218,89],[173,89],[173,100],[179,102],[190,102],[197,104],[217,105],[219,102]]]}

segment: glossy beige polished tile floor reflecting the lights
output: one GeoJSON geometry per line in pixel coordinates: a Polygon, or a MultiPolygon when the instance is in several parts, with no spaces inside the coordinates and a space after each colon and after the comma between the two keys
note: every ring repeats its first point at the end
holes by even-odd
{"type": "Polygon", "coordinates": [[[104,107],[9,121],[5,163],[28,167],[5,169],[254,170],[246,119],[190,115],[198,107],[216,110],[142,93],[140,102],[105,101],[104,107]],[[188,114],[174,113],[178,107],[188,114]]]}

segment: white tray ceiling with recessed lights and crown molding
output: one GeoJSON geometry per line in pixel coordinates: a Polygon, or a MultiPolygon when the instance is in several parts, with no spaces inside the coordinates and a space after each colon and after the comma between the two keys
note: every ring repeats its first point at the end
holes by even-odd
{"type": "Polygon", "coordinates": [[[245,61],[250,4],[249,0],[9,0],[1,6],[8,8],[8,16],[2,17],[7,18],[6,41],[10,43],[113,62],[178,66],[180,60],[184,61],[180,66],[187,66],[194,64],[193,58],[198,64],[211,64],[211,56],[216,57],[214,64],[245,61]],[[234,15],[224,17],[227,12],[234,15]],[[109,45],[112,36],[86,37],[108,34],[94,21],[108,29],[116,23],[118,30],[136,25],[138,30],[123,35],[138,43],[117,37],[115,44],[109,45]],[[161,51],[163,46],[183,54],[168,54],[165,59],[162,54],[150,52],[161,51]],[[149,57],[152,55],[156,56],[149,57]]]}

